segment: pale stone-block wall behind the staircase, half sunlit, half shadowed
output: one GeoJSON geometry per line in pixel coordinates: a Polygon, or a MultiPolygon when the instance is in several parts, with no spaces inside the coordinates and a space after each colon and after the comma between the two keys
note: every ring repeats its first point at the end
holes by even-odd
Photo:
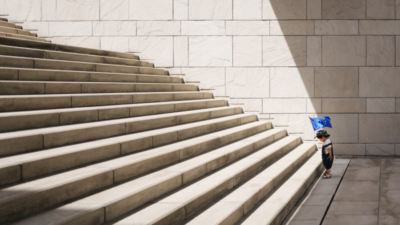
{"type": "Polygon", "coordinates": [[[56,43],[140,51],[306,139],[308,116],[329,115],[337,154],[400,155],[400,0],[0,0],[2,13],[56,43]]]}

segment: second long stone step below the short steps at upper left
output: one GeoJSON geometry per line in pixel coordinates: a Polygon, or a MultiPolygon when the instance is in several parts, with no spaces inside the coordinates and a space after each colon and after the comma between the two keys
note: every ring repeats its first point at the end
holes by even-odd
{"type": "Polygon", "coordinates": [[[51,50],[41,50],[32,48],[22,48],[7,45],[0,45],[0,55],[30,57],[30,58],[43,58],[64,61],[76,62],[91,62],[101,64],[114,64],[114,65],[127,65],[127,66],[140,66],[153,68],[153,63],[139,61],[136,59],[124,59],[109,56],[98,56],[81,53],[59,52],[51,50]]]}

